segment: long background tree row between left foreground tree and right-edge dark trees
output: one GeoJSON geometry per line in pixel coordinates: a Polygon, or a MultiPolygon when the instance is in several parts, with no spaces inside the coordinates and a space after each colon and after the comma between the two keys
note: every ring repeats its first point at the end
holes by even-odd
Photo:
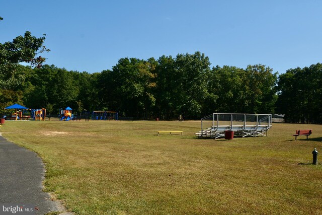
{"type": "Polygon", "coordinates": [[[48,106],[53,113],[70,106],[75,112],[109,110],[141,119],[179,114],[199,119],[213,112],[272,113],[277,98],[277,74],[271,68],[210,68],[200,52],[157,60],[121,58],[111,70],[95,74],[54,65],[17,68],[24,82],[7,97],[31,108],[48,106]]]}

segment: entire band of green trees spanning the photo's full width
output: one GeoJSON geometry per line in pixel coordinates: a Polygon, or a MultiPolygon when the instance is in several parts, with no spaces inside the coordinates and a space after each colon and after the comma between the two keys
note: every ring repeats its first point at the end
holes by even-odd
{"type": "Polygon", "coordinates": [[[320,63],[285,74],[269,66],[210,67],[205,54],[163,55],[158,59],[121,58],[100,73],[42,65],[49,51],[26,32],[0,43],[0,107],[20,103],[51,112],[108,110],[137,119],[200,119],[214,112],[281,113],[286,122],[321,123],[320,63]],[[32,66],[20,65],[29,62],[32,66]]]}

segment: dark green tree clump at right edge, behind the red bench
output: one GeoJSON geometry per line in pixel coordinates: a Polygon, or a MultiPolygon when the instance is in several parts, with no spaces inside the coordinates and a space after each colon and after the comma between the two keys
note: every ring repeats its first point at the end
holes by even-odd
{"type": "Polygon", "coordinates": [[[322,123],[322,64],[288,69],[277,89],[277,112],[287,122],[322,123]]]}

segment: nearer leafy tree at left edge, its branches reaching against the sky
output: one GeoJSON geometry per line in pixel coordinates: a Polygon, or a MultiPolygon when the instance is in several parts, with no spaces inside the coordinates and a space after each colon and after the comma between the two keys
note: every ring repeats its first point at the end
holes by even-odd
{"type": "MultiPolygon", "coordinates": [[[[0,17],[0,20],[3,20],[0,17]]],[[[39,53],[49,51],[43,46],[45,34],[36,38],[29,31],[24,36],[18,36],[12,42],[0,43],[0,106],[5,107],[12,102],[22,102],[27,73],[29,67],[19,63],[29,63],[31,66],[41,67],[45,58],[38,56],[39,53]]]]}

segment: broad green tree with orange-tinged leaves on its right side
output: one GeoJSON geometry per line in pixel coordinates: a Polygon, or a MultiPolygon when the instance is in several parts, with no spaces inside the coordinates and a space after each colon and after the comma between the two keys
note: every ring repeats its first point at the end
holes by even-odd
{"type": "Polygon", "coordinates": [[[99,78],[100,107],[122,115],[149,117],[155,104],[154,61],[122,58],[99,78]]]}

